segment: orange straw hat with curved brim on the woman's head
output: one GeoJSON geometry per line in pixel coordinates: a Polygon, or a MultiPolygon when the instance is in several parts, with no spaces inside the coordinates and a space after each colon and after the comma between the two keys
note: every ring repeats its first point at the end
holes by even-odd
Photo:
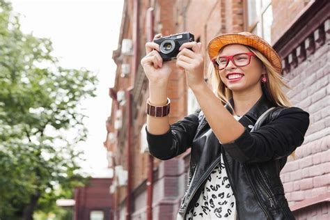
{"type": "Polygon", "coordinates": [[[232,44],[246,45],[257,49],[268,59],[270,63],[272,63],[278,73],[282,72],[281,58],[278,56],[273,47],[264,39],[249,32],[226,33],[210,40],[207,45],[207,52],[210,59],[217,56],[222,47],[232,44]]]}

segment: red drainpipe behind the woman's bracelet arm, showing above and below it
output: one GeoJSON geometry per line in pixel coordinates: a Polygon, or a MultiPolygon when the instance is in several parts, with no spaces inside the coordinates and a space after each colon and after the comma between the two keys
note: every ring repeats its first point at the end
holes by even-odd
{"type": "MultiPolygon", "coordinates": [[[[147,10],[147,29],[148,41],[152,41],[155,36],[154,33],[154,9],[147,10]]],[[[152,191],[153,191],[153,171],[154,171],[154,157],[149,154],[148,159],[148,180],[147,180],[147,220],[152,220],[152,191]]]]}

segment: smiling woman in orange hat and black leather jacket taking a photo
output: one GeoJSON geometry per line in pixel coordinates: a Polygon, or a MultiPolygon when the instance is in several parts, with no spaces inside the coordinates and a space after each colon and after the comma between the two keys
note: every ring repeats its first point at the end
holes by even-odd
{"type": "Polygon", "coordinates": [[[281,90],[285,84],[275,50],[248,32],[212,39],[207,52],[214,66],[213,92],[203,79],[201,43],[182,45],[176,65],[201,110],[173,125],[166,94],[171,65],[162,63],[159,45],[147,42],[146,52],[141,65],[149,79],[150,153],[171,159],[191,147],[178,219],[294,219],[279,176],[288,155],[304,142],[309,115],[290,107],[281,90]],[[254,127],[260,116],[262,123],[254,127]]]}

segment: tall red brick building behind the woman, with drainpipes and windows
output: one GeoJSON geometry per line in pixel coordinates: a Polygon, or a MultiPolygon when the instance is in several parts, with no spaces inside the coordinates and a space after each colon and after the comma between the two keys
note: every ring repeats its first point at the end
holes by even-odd
{"type": "MultiPolygon", "coordinates": [[[[292,103],[311,114],[303,146],[281,173],[297,219],[330,218],[330,2],[327,0],[126,0],[120,28],[112,108],[107,120],[109,163],[116,167],[113,196],[116,219],[175,219],[187,184],[189,150],[169,161],[146,152],[148,79],[139,65],[152,32],[189,31],[202,42],[220,33],[250,31],[265,38],[283,58],[283,77],[292,103]],[[153,8],[150,10],[148,8],[153,8]],[[150,19],[153,15],[153,19],[150,19]],[[150,163],[152,177],[148,179],[150,163]],[[148,186],[147,186],[148,185],[148,186]],[[152,189],[152,191],[150,191],[152,189]],[[153,194],[151,194],[151,192],[153,194]],[[149,197],[148,197],[149,196],[149,197]],[[151,197],[152,196],[152,199],[151,197]],[[148,202],[152,206],[148,207],[148,202]],[[148,212],[152,211],[152,212],[148,212]]],[[[168,84],[171,123],[198,107],[184,72],[168,84]]]]}

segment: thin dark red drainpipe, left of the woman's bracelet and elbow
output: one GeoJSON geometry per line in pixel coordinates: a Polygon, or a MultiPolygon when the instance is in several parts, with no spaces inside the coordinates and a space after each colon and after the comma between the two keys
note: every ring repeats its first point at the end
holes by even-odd
{"type": "Polygon", "coordinates": [[[131,219],[132,201],[132,91],[133,87],[126,90],[127,100],[127,197],[126,197],[126,220],[131,219]]]}

